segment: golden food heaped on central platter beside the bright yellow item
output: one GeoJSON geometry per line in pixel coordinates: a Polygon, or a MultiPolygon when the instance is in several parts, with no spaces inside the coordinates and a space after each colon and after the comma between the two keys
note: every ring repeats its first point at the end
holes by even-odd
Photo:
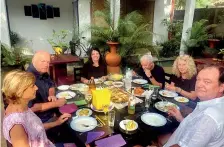
{"type": "Polygon", "coordinates": [[[130,95],[118,88],[111,88],[111,101],[114,103],[125,103],[128,102],[130,95]]]}

